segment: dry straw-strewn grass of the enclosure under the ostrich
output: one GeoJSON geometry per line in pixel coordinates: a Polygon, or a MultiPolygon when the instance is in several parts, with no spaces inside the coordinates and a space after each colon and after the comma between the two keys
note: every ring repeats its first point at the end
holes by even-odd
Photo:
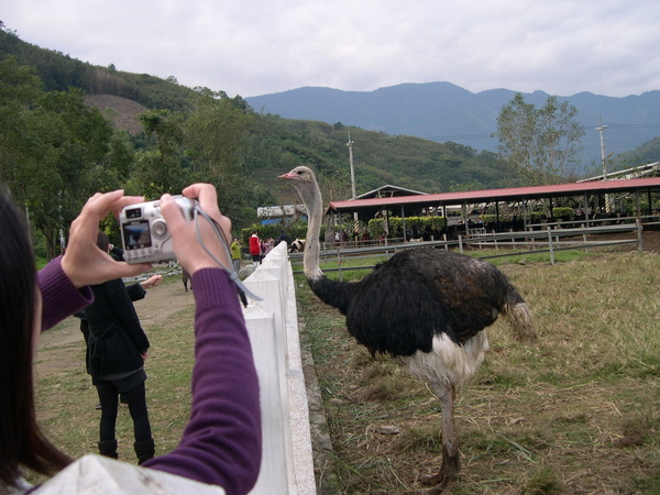
{"type": "MultiPolygon", "coordinates": [[[[540,340],[504,323],[461,391],[463,473],[454,494],[660,493],[660,255],[502,266],[540,340]]],[[[405,493],[441,459],[439,403],[387,358],[372,360],[343,318],[298,293],[333,442],[328,493],[405,493]]]]}

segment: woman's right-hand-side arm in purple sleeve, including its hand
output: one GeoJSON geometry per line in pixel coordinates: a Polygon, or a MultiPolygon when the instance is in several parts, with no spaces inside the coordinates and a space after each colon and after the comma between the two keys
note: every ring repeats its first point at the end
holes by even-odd
{"type": "MultiPolygon", "coordinates": [[[[198,198],[224,239],[231,239],[231,220],[220,213],[213,186],[194,184],[183,193],[198,198]]],[[[195,286],[193,411],[179,447],[143,465],[220,485],[230,495],[245,494],[261,466],[261,410],[238,292],[216,262],[231,266],[231,260],[215,230],[205,220],[197,230],[169,195],[161,198],[161,209],[177,258],[195,286]]]]}

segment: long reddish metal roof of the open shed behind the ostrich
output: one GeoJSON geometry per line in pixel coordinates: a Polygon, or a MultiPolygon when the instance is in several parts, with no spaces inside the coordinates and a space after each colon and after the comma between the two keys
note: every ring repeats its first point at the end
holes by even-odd
{"type": "Polygon", "coordinates": [[[660,177],[569,183],[552,186],[510,187],[505,189],[466,190],[461,193],[440,193],[421,196],[397,196],[394,198],[349,199],[345,201],[332,201],[328,207],[328,211],[348,213],[366,210],[377,211],[394,206],[425,208],[431,206],[572,197],[585,194],[634,193],[636,190],[660,191],[660,177]]]}

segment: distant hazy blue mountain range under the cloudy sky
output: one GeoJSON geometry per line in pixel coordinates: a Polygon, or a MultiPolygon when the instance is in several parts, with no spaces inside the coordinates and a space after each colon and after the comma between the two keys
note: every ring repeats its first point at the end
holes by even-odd
{"type": "MultiPolygon", "coordinates": [[[[497,129],[497,116],[516,92],[492,89],[474,94],[451,82],[427,82],[374,91],[304,87],[245,100],[256,112],[286,119],[341,122],[386,134],[452,141],[476,150],[496,151],[497,140],[492,134],[497,129]]],[[[537,108],[550,96],[543,91],[522,95],[526,102],[537,108]]],[[[580,92],[558,100],[573,105],[579,122],[585,128],[583,170],[601,164],[601,135],[595,130],[600,118],[607,125],[606,154],[616,156],[660,135],[660,91],[625,98],[580,92]]]]}

